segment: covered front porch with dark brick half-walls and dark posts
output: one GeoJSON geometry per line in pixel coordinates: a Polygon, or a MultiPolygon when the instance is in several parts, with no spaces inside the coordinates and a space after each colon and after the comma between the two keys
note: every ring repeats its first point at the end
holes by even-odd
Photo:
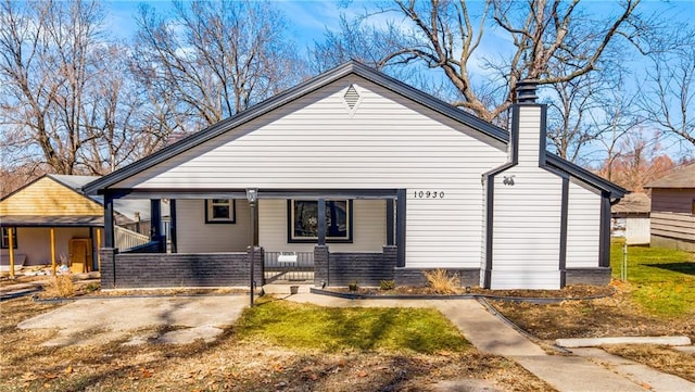
{"type": "MultiPolygon", "coordinates": [[[[168,199],[170,235],[152,230],[149,243],[124,251],[104,246],[102,288],[249,287],[252,274],[256,287],[379,286],[405,264],[404,190],[255,192],[156,194],[168,199]],[[228,222],[211,219],[220,216],[228,222]]],[[[104,199],[109,222],[113,199],[104,199]]],[[[156,228],[159,199],[150,200],[156,228]]],[[[110,236],[108,226],[106,244],[110,236]]]]}

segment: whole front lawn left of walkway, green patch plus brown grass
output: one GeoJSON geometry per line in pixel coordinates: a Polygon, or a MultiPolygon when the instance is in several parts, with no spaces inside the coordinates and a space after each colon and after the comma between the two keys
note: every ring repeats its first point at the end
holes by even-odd
{"type": "Polygon", "coordinates": [[[513,361],[480,353],[432,311],[258,304],[213,343],[45,347],[54,331],[16,325],[60,305],[2,302],[0,391],[428,391],[457,379],[553,390],[513,361]]]}

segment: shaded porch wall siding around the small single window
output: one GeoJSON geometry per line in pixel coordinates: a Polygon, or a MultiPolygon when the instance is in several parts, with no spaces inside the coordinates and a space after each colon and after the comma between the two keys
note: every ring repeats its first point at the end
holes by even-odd
{"type": "Polygon", "coordinates": [[[249,202],[237,200],[235,224],[206,224],[204,200],[176,201],[178,253],[244,252],[251,243],[249,202]]]}

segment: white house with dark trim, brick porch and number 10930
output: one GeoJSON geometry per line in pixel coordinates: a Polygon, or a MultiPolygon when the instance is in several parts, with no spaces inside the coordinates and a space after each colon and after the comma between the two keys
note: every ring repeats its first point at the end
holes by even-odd
{"type": "Polygon", "coordinates": [[[263,284],[300,260],[328,286],[434,268],[492,289],[607,283],[626,191],[545,151],[534,88],[509,134],[358,63],[309,79],[85,187],[104,195],[102,288],[249,284],[251,266],[263,284]],[[179,254],[114,249],[113,203],[138,198],[169,201],[179,254]]]}

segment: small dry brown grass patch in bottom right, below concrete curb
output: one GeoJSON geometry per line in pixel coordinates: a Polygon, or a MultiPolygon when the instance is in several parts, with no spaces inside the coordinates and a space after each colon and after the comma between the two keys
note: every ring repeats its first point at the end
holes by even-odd
{"type": "Polygon", "coordinates": [[[672,347],[654,344],[616,344],[603,349],[640,364],[669,372],[695,382],[695,355],[672,347]]]}

